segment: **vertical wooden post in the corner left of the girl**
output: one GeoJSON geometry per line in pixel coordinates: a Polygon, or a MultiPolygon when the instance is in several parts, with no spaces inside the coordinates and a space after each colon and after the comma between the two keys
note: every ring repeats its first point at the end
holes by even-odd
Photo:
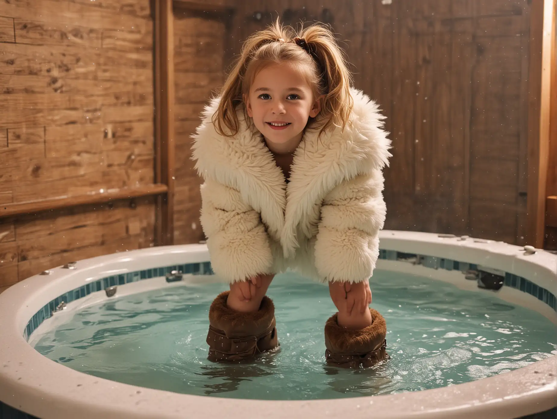
{"type": "Polygon", "coordinates": [[[159,196],[155,244],[174,243],[174,16],[172,0],[155,1],[155,179],[167,185],[159,196]]]}

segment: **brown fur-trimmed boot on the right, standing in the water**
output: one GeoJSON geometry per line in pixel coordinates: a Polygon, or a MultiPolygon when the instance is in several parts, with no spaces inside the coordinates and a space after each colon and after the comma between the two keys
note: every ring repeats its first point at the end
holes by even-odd
{"type": "Polygon", "coordinates": [[[339,326],[337,314],[325,323],[326,361],[342,368],[371,367],[384,359],[386,352],[387,324],[377,310],[369,309],[373,323],[359,330],[339,326]]]}

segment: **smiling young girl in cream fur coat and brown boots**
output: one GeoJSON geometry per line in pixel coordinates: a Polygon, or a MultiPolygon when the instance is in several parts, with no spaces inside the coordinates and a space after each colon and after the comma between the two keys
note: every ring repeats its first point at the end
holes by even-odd
{"type": "Polygon", "coordinates": [[[326,361],[370,366],[388,357],[368,279],[390,141],[377,105],[350,87],[333,34],[313,25],[295,35],[277,20],[248,38],[194,135],[201,224],[213,270],[230,283],[209,309],[209,359],[278,346],[265,294],[290,268],[329,283],[338,313],[325,324],[326,361]]]}

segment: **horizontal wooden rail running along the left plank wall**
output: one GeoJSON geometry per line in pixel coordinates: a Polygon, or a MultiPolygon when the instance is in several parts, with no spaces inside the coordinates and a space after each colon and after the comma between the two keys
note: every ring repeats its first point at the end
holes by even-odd
{"type": "Polygon", "coordinates": [[[9,215],[34,214],[69,206],[101,204],[116,199],[139,198],[140,196],[160,195],[167,193],[167,185],[151,184],[136,186],[135,188],[100,189],[80,195],[53,196],[14,204],[0,205],[0,218],[9,215]]]}

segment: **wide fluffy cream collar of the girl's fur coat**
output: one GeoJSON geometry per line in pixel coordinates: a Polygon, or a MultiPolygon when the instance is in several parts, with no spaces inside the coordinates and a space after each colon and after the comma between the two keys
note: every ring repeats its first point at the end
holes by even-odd
{"type": "Polygon", "coordinates": [[[193,135],[193,159],[202,178],[214,179],[240,191],[242,199],[261,214],[267,233],[280,241],[286,258],[299,247],[297,232],[306,225],[321,200],[336,185],[359,174],[370,174],[388,164],[390,141],[382,130],[384,117],[367,95],[351,89],[351,125],[333,127],[318,139],[306,129],[294,154],[287,184],[281,169],[253,123],[238,111],[240,130],[234,137],[219,135],[211,118],[219,98],[205,108],[202,124],[193,135]]]}

